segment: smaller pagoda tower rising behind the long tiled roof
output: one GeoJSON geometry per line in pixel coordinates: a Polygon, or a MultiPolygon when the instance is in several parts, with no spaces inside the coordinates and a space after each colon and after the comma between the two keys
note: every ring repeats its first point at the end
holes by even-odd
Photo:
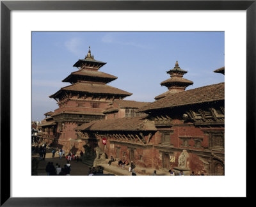
{"type": "Polygon", "coordinates": [[[187,73],[187,71],[182,70],[179,67],[178,61],[176,61],[175,67],[172,70],[167,71],[166,73],[170,74],[171,78],[161,82],[160,84],[161,86],[166,86],[168,88],[168,91],[159,96],[156,96],[156,100],[164,98],[170,93],[179,93],[181,91],[184,91],[188,86],[193,84],[192,81],[183,78],[183,75],[187,73]]]}

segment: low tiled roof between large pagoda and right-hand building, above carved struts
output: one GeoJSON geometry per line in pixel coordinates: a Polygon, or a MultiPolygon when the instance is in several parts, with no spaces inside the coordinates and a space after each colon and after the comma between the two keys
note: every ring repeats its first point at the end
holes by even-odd
{"type": "Polygon", "coordinates": [[[75,130],[86,131],[156,131],[154,121],[141,117],[104,119],[85,123],[75,130]]]}

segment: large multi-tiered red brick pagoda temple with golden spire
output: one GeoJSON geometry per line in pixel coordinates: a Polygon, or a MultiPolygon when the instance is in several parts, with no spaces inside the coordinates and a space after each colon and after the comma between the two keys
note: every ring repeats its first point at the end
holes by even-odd
{"type": "MultiPolygon", "coordinates": [[[[94,59],[89,47],[86,57],[74,64],[79,70],[72,72],[63,80],[63,82],[70,82],[71,85],[49,96],[59,105],[58,109],[51,114],[55,125],[51,123],[51,128],[48,129],[54,133],[52,137],[55,139],[52,142],[58,144],[59,148],[72,150],[76,146],[77,149],[82,149],[84,143],[76,139],[77,134],[74,128],[83,123],[104,119],[103,112],[113,104],[114,100],[122,100],[132,95],[107,85],[117,77],[99,71],[105,64],[94,59]]],[[[47,123],[44,123],[44,127],[46,125],[47,123]]]]}

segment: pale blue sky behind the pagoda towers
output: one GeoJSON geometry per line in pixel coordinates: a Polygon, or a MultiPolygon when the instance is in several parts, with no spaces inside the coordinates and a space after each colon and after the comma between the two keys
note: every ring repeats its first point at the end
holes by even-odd
{"type": "Polygon", "coordinates": [[[224,66],[224,32],[33,32],[32,33],[32,119],[58,107],[49,95],[61,87],[88,47],[95,59],[106,62],[101,72],[118,77],[110,86],[133,93],[125,100],[154,102],[167,91],[160,82],[170,78],[166,71],[179,66],[194,84],[187,89],[224,81],[213,70],[224,66]]]}

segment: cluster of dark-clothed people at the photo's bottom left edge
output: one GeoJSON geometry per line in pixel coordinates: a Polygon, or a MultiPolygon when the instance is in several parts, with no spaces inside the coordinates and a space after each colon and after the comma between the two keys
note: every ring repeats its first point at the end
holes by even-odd
{"type": "Polygon", "coordinates": [[[67,161],[67,164],[65,164],[63,167],[60,167],[60,165],[58,163],[54,167],[53,162],[48,162],[45,167],[45,171],[47,173],[47,176],[52,176],[52,175],[70,176],[71,165],[70,165],[69,161],[67,161]]]}

